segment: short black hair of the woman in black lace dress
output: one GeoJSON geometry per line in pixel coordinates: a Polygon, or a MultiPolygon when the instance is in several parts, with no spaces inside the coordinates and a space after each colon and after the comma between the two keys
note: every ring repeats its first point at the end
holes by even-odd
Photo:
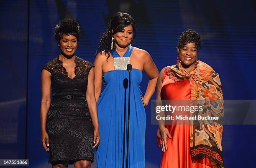
{"type": "Polygon", "coordinates": [[[58,44],[62,39],[62,35],[74,35],[77,40],[80,38],[80,26],[76,20],[67,19],[61,20],[59,24],[56,25],[54,30],[54,38],[57,40],[58,44]]]}

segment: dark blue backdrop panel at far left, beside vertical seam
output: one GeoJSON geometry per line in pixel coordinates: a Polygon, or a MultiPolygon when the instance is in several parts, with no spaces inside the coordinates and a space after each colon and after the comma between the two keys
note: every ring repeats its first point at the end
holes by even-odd
{"type": "Polygon", "coordinates": [[[26,158],[28,2],[0,4],[0,158],[26,158]]]}

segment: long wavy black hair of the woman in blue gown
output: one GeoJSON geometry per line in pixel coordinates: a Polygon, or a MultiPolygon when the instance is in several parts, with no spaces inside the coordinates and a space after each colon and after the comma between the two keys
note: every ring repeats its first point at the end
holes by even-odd
{"type": "MultiPolygon", "coordinates": [[[[134,39],[136,36],[136,24],[133,17],[128,13],[120,13],[120,12],[115,13],[113,18],[108,23],[107,30],[105,30],[102,36],[100,37],[100,43],[96,51],[96,54],[97,53],[102,54],[102,51],[104,50],[105,55],[107,56],[107,61],[108,61],[108,58],[110,57],[110,47],[111,47],[113,35],[115,33],[121,32],[123,28],[125,28],[128,25],[132,25],[133,27],[133,39],[134,39]],[[112,30],[113,30],[113,33],[112,33],[112,30]]],[[[132,39],[132,43],[134,43],[133,39],[132,39]]],[[[116,47],[115,45],[113,45],[113,50],[115,49],[116,47]]]]}

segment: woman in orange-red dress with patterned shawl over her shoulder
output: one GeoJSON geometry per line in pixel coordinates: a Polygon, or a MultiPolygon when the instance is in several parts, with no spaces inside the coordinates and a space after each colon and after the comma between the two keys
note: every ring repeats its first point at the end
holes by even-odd
{"type": "MultiPolygon", "coordinates": [[[[197,59],[200,35],[186,30],[179,37],[177,65],[161,70],[156,100],[217,100],[202,114],[223,120],[223,93],[218,73],[197,59]],[[180,61],[179,61],[180,60],[180,61]]],[[[194,113],[193,115],[196,115],[194,113]]],[[[161,168],[223,168],[221,146],[223,125],[215,120],[192,120],[187,124],[159,123],[158,142],[162,149],[161,168]]]]}

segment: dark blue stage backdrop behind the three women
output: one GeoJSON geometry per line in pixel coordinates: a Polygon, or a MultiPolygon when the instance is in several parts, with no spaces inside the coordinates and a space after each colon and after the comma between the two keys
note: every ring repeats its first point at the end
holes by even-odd
{"type": "MultiPolygon", "coordinates": [[[[254,0],[1,0],[0,159],[28,158],[31,168],[51,167],[40,143],[41,67],[60,52],[53,28],[79,20],[77,55],[94,61],[110,17],[128,12],[136,20],[136,47],[151,54],[159,70],[175,64],[177,39],[188,28],[200,33],[199,59],[220,74],[225,99],[256,99],[256,2],[254,0]]],[[[145,92],[148,78],[143,74],[145,92]]],[[[153,99],[155,97],[153,96],[153,99]]],[[[146,108],[146,168],[158,168],[161,149],[146,108]]],[[[227,168],[256,167],[256,125],[225,125],[227,168]]],[[[95,164],[94,164],[95,166],[95,164]]]]}

